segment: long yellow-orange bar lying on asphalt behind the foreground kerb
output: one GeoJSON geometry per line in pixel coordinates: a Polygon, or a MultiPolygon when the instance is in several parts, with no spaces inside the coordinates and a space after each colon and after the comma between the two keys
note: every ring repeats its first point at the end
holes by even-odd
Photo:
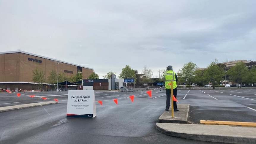
{"type": "Polygon", "coordinates": [[[200,120],[200,124],[256,127],[256,123],[252,123],[252,122],[238,122],[238,121],[208,121],[208,120],[200,120]]]}

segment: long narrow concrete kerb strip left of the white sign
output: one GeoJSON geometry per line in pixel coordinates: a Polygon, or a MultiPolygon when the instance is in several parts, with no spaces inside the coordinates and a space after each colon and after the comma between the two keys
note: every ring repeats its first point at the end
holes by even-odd
{"type": "Polygon", "coordinates": [[[51,104],[56,104],[56,103],[58,103],[58,102],[37,102],[37,103],[31,103],[31,104],[23,104],[23,105],[13,105],[13,106],[7,106],[7,107],[0,107],[0,112],[4,112],[4,111],[8,111],[8,110],[17,110],[17,109],[27,108],[27,107],[51,105],[51,104]]]}

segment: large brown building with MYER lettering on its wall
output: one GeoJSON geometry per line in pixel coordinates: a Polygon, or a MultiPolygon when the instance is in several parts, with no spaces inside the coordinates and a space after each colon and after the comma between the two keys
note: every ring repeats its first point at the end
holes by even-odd
{"type": "MultiPolygon", "coordinates": [[[[68,62],[39,56],[24,51],[0,52],[0,88],[10,90],[37,90],[38,86],[32,81],[33,71],[40,69],[45,74],[45,80],[50,76],[50,72],[64,73],[70,77],[76,75],[78,71],[82,72],[83,79],[88,79],[93,73],[93,69],[68,62]]],[[[60,83],[61,81],[59,81],[60,83]]],[[[47,82],[42,89],[52,86],[47,82]]]]}

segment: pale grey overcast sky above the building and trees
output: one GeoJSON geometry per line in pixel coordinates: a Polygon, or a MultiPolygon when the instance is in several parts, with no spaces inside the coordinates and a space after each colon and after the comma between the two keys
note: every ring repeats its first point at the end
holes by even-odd
{"type": "Polygon", "coordinates": [[[256,61],[255,0],[0,0],[0,51],[22,50],[119,76],[125,65],[159,77],[256,61]]]}

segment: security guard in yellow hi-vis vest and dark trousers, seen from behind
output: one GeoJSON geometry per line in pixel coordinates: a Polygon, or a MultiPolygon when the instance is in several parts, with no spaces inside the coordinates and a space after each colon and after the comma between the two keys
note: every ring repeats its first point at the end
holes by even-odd
{"type": "MultiPolygon", "coordinates": [[[[175,98],[177,97],[177,82],[178,77],[175,72],[173,72],[173,66],[167,67],[167,72],[165,73],[165,91],[166,91],[166,107],[165,110],[169,111],[170,108],[170,98],[171,98],[171,81],[173,81],[173,94],[175,98]]],[[[173,110],[179,111],[177,109],[177,102],[173,101],[173,110]]]]}

